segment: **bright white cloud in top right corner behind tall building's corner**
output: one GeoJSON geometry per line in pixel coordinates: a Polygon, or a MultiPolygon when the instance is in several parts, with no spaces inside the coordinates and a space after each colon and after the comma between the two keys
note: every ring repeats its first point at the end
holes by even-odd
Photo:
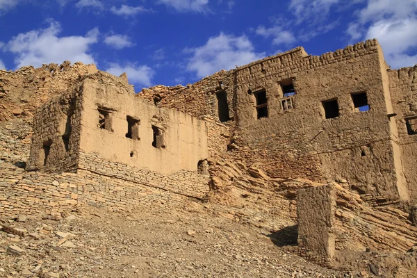
{"type": "Polygon", "coordinates": [[[391,67],[413,66],[417,63],[417,1],[367,0],[346,33],[351,41],[376,38],[391,67]]]}

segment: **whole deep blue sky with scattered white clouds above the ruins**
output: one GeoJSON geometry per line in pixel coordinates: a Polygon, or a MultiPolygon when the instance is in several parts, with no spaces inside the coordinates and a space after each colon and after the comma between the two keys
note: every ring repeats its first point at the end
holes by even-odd
{"type": "Polygon", "coordinates": [[[414,66],[417,0],[0,0],[0,68],[95,63],[136,91],[368,38],[392,68],[414,66]]]}

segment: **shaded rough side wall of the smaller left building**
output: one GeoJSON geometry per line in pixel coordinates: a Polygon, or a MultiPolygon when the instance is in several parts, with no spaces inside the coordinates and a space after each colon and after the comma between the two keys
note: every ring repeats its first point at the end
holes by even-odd
{"type": "Polygon", "coordinates": [[[81,135],[81,88],[68,90],[38,109],[26,170],[74,172],[81,135]]]}

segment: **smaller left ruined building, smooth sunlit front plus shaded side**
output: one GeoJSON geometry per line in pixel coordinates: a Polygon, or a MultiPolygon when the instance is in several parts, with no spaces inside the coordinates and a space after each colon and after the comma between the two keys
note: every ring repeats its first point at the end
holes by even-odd
{"type": "Polygon", "coordinates": [[[33,130],[27,170],[74,172],[80,151],[165,174],[197,171],[208,158],[204,121],[136,98],[104,72],[42,106],[33,130]]]}

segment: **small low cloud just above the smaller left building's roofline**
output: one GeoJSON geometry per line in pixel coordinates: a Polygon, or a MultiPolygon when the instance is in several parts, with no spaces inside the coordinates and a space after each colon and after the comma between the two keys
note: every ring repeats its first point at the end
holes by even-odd
{"type": "Polygon", "coordinates": [[[126,72],[129,82],[145,85],[147,87],[152,85],[151,80],[154,76],[154,70],[147,65],[136,65],[132,63],[128,63],[126,65],[111,63],[106,72],[110,72],[116,76],[120,76],[120,74],[126,72]]]}

